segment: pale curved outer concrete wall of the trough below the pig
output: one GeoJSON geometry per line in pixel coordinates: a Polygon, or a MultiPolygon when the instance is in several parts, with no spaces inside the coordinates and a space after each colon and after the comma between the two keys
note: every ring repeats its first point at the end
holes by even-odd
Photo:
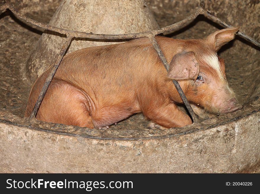
{"type": "Polygon", "coordinates": [[[1,123],[0,172],[241,172],[259,161],[260,113],[187,135],[97,140],[1,123]]]}

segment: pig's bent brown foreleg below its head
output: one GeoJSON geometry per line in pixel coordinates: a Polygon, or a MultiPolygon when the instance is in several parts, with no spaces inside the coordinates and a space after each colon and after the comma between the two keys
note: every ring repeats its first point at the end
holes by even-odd
{"type": "Polygon", "coordinates": [[[174,103],[154,107],[154,109],[143,108],[144,115],[165,128],[183,127],[192,124],[191,118],[178,109],[174,103]]]}

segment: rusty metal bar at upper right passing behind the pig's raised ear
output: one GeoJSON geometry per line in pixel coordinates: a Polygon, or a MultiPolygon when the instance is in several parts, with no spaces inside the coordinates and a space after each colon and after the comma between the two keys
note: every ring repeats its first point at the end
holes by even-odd
{"type": "MultiPolygon", "coordinates": [[[[217,22],[218,24],[220,24],[220,25],[223,26],[223,27],[226,27],[226,28],[228,28],[228,27],[229,27],[229,28],[230,28],[230,27],[233,27],[232,25],[226,23],[224,20],[222,20],[222,19],[220,19],[219,17],[213,15],[212,13],[210,13],[209,11],[207,11],[207,10],[204,9],[204,8],[200,9],[200,13],[203,14],[203,15],[205,15],[206,17],[208,17],[208,18],[211,19],[212,21],[217,22]]],[[[258,41],[255,40],[254,38],[252,38],[252,37],[246,35],[245,33],[238,31],[236,34],[239,35],[240,37],[242,37],[243,39],[245,39],[245,40],[247,40],[247,41],[253,43],[254,45],[260,47],[260,42],[258,42],[258,41]]]]}

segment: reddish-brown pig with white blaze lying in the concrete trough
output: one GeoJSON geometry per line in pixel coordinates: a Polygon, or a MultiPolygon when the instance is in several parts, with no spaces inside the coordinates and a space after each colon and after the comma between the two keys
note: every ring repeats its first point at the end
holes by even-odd
{"type": "MultiPolygon", "coordinates": [[[[239,27],[218,30],[204,39],[155,36],[170,68],[167,72],[148,38],[83,48],[65,55],[39,107],[36,119],[87,128],[108,128],[142,112],[163,128],[192,124],[172,79],[189,102],[220,114],[241,105],[228,86],[224,60],[217,51],[239,27]]],[[[49,67],[34,83],[25,117],[29,117],[49,67]]]]}

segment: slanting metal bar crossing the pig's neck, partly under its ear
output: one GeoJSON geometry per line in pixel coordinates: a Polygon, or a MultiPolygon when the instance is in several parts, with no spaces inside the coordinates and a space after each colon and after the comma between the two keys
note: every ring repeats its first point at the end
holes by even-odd
{"type": "MultiPolygon", "coordinates": [[[[160,47],[159,47],[159,45],[158,45],[158,43],[157,43],[157,41],[156,41],[154,35],[153,35],[153,34],[150,34],[149,36],[147,36],[147,38],[149,38],[149,40],[151,41],[151,43],[152,43],[152,45],[154,46],[155,50],[157,51],[157,53],[158,53],[160,59],[161,59],[162,62],[163,62],[163,65],[164,65],[166,71],[169,71],[169,64],[167,63],[166,58],[165,58],[165,56],[163,55],[163,52],[162,52],[162,50],[160,49],[160,47]]],[[[199,119],[197,118],[196,114],[195,114],[194,111],[192,110],[191,105],[190,105],[189,101],[187,100],[187,98],[186,98],[184,92],[182,91],[180,84],[178,83],[178,81],[176,81],[176,80],[174,80],[174,79],[173,79],[172,81],[173,81],[173,84],[174,84],[174,86],[176,87],[178,93],[180,94],[180,97],[181,97],[181,99],[182,99],[184,105],[185,105],[186,108],[188,109],[188,111],[189,111],[189,113],[190,113],[190,115],[191,115],[191,117],[192,117],[193,122],[196,123],[196,124],[199,123],[199,119]]]]}

